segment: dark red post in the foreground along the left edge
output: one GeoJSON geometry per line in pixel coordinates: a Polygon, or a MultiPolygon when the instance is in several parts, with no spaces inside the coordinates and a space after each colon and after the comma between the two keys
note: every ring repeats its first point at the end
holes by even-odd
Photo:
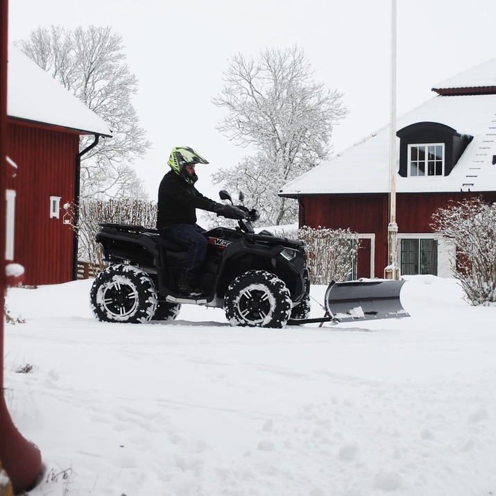
{"type": "MultiPolygon", "coordinates": [[[[8,0],[0,0],[0,307],[6,291],[6,171],[8,0]]],[[[30,489],[40,473],[40,450],[19,433],[3,395],[3,316],[0,318],[0,460],[15,493],[30,489]]]]}

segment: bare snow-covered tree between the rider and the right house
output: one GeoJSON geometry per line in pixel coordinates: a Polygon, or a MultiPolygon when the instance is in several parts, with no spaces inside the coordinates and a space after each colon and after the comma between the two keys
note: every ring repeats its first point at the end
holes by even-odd
{"type": "Polygon", "coordinates": [[[224,76],[223,90],[212,100],[228,111],[218,129],[254,154],[216,172],[213,182],[256,200],[262,223],[294,222],[296,200],[277,193],[329,155],[332,128],[348,113],[342,96],[314,81],[298,46],[266,49],[256,60],[238,53],[224,76]]]}

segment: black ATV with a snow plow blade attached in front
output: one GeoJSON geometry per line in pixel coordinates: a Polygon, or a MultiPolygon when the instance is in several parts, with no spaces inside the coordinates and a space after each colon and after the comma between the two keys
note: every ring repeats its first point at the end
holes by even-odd
{"type": "MultiPolygon", "coordinates": [[[[232,199],[220,191],[222,200],[232,199]]],[[[232,326],[275,327],[287,323],[344,322],[408,316],[400,304],[404,281],[332,282],[325,293],[325,316],[309,319],[310,276],[305,243],[255,233],[257,210],[239,196],[246,219],[236,228],[205,232],[207,256],[200,274],[202,296],[178,293],[185,247],[142,225],[101,223],[96,241],[110,266],[90,291],[94,315],[105,322],[173,320],[182,304],[223,308],[232,326]]]]}

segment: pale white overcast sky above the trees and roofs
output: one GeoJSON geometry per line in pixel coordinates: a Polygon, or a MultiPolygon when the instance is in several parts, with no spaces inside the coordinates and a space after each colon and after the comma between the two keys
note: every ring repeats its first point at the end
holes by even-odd
{"type": "MultiPolygon", "coordinates": [[[[10,0],[9,19],[10,40],[51,24],[111,26],[121,35],[139,80],[133,102],[153,142],[136,165],[151,199],[173,146],[196,148],[212,171],[246,153],[216,131],[222,110],[211,103],[237,52],[305,50],[315,79],[342,92],[350,110],[334,130],[335,152],[389,120],[391,0],[10,0]]],[[[397,114],[431,98],[436,83],[495,57],[495,19],[494,0],[397,1],[397,114]]],[[[198,173],[199,189],[213,196],[208,175],[198,173]]]]}

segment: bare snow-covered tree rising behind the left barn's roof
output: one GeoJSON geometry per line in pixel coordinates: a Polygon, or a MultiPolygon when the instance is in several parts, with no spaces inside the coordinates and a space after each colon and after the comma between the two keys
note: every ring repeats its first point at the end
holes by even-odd
{"type": "MultiPolygon", "coordinates": [[[[109,27],[39,27],[19,49],[64,85],[112,129],[81,163],[81,198],[146,198],[142,180],[132,169],[151,144],[131,103],[137,78],[131,74],[123,42],[109,27]]],[[[83,137],[80,149],[93,137],[83,137]]]]}

